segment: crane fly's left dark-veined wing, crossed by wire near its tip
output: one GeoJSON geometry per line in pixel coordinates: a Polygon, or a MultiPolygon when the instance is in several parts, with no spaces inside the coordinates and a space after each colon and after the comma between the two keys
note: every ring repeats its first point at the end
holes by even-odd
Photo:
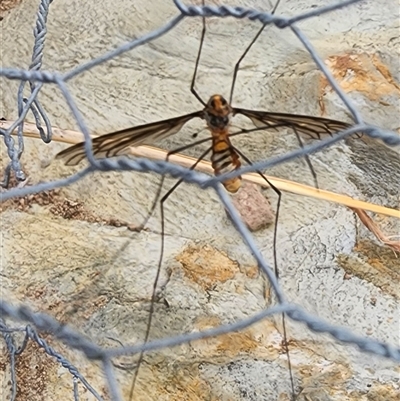
{"type": "MultiPolygon", "coordinates": [[[[176,134],[195,117],[203,118],[203,111],[101,135],[92,140],[93,154],[99,159],[119,156],[130,146],[151,144],[176,134]]],[[[56,156],[56,159],[63,159],[67,166],[75,166],[85,158],[84,142],[70,146],[56,156]]]]}

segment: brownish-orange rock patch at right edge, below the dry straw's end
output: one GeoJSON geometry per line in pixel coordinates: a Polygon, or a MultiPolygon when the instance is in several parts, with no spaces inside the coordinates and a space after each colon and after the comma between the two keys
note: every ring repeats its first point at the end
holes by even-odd
{"type": "Polygon", "coordinates": [[[340,266],[351,275],[369,281],[383,292],[400,299],[398,256],[389,248],[362,240],[354,249],[357,256],[339,255],[340,266]]]}

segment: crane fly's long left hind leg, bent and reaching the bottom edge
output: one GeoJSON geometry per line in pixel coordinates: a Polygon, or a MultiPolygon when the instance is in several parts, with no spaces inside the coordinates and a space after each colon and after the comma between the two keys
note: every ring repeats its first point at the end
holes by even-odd
{"type": "MultiPolygon", "coordinates": [[[[210,138],[207,138],[207,140],[210,140],[210,138]]],[[[203,143],[203,142],[206,142],[206,140],[201,140],[201,141],[198,141],[198,142],[199,143],[203,143]]],[[[171,156],[172,153],[180,152],[180,151],[188,148],[189,146],[193,146],[193,144],[184,146],[184,147],[182,147],[180,149],[175,149],[174,151],[172,151],[171,153],[169,153],[167,155],[166,161],[168,161],[168,158],[169,158],[169,156],[171,156]]],[[[196,166],[200,163],[200,161],[203,160],[211,152],[211,150],[212,150],[212,148],[210,147],[205,152],[203,152],[203,154],[196,160],[196,163],[194,163],[190,167],[190,170],[195,169],[196,166]]],[[[149,335],[150,335],[151,323],[152,323],[153,313],[154,313],[154,305],[155,305],[155,301],[156,301],[156,290],[157,290],[157,286],[158,286],[158,280],[160,278],[162,260],[163,260],[163,257],[164,257],[164,245],[165,245],[165,241],[164,241],[164,234],[165,234],[164,202],[166,202],[166,200],[169,198],[169,196],[182,183],[182,181],[183,181],[183,178],[181,178],[160,200],[160,210],[161,210],[161,251],[160,251],[160,258],[158,260],[158,265],[157,265],[156,277],[155,277],[154,282],[153,282],[153,292],[151,294],[150,312],[149,312],[149,319],[147,320],[147,327],[146,327],[146,333],[145,333],[145,337],[144,337],[144,343],[147,343],[147,341],[149,339],[149,335]]],[[[137,377],[138,377],[138,374],[139,374],[140,365],[143,362],[143,356],[144,356],[144,352],[141,352],[140,355],[139,355],[137,368],[135,370],[135,373],[134,373],[134,376],[133,376],[133,379],[132,379],[131,389],[130,389],[130,392],[129,392],[129,400],[130,401],[132,401],[133,392],[135,391],[135,385],[136,385],[137,377]]]]}

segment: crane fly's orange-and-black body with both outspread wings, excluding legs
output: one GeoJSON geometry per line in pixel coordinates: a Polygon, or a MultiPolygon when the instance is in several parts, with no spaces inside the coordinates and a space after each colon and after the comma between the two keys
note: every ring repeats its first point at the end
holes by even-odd
{"type": "MultiPolygon", "coordinates": [[[[213,95],[203,110],[94,138],[92,140],[93,154],[98,158],[121,156],[131,146],[149,145],[178,133],[187,122],[194,118],[205,120],[211,133],[212,145],[209,148],[209,152],[211,152],[212,167],[216,175],[237,170],[241,166],[240,155],[231,143],[231,136],[248,133],[249,131],[278,130],[279,128],[287,127],[310,138],[321,139],[324,135],[332,135],[337,131],[350,127],[348,123],[322,117],[233,108],[223,96],[213,95]],[[237,114],[248,117],[256,126],[256,129],[241,130],[230,134],[232,117],[237,114]]],[[[207,140],[209,138],[202,142],[207,140]]],[[[199,143],[196,142],[195,144],[199,143]]],[[[83,144],[83,142],[78,143],[63,150],[57,155],[57,158],[64,160],[68,166],[77,165],[86,158],[83,144]]],[[[223,185],[227,191],[235,193],[240,188],[241,178],[235,177],[226,180],[223,185]]]]}

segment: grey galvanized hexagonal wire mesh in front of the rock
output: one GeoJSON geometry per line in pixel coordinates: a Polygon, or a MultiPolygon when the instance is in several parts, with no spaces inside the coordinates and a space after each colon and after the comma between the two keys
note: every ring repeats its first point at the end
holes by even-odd
{"type": "Polygon", "coordinates": [[[331,72],[317,55],[307,37],[296,26],[296,23],[303,20],[312,19],[317,15],[322,15],[332,10],[351,7],[353,3],[358,2],[360,1],[351,0],[332,2],[332,4],[329,6],[314,8],[312,9],[312,11],[299,14],[295,17],[285,18],[283,16],[272,15],[268,12],[253,10],[245,7],[208,5],[187,6],[178,0],[174,0],[174,4],[177,8],[177,16],[172,18],[165,25],[135,40],[132,40],[100,57],[94,58],[85,64],[79,65],[78,67],[72,69],[65,74],[41,70],[42,58],[43,55],[46,53],[46,22],[48,19],[49,10],[51,9],[52,1],[42,0],[40,2],[39,11],[37,13],[37,22],[34,29],[34,48],[32,52],[31,65],[26,70],[7,67],[3,67],[0,70],[0,76],[3,76],[10,80],[21,81],[17,93],[18,119],[9,129],[1,130],[0,132],[4,138],[8,157],[10,159],[5,169],[5,175],[2,185],[7,186],[12,175],[14,175],[18,181],[23,181],[26,178],[23,168],[21,167],[20,159],[24,152],[24,120],[30,111],[35,118],[35,122],[42,140],[45,143],[49,143],[52,139],[52,128],[50,124],[50,119],[46,114],[45,107],[40,103],[38,99],[38,95],[42,87],[47,84],[56,84],[61,90],[61,93],[65,97],[65,100],[74,118],[76,119],[80,131],[84,134],[85,149],[87,152],[87,158],[89,160],[89,167],[86,167],[78,173],[70,175],[65,179],[59,179],[51,182],[36,184],[29,187],[26,186],[23,188],[13,188],[8,191],[3,191],[1,193],[2,201],[15,197],[38,193],[41,191],[48,191],[56,188],[65,187],[81,180],[83,177],[92,174],[95,171],[154,172],[159,175],[168,175],[174,178],[183,179],[185,182],[196,184],[202,189],[211,188],[218,195],[220,202],[228,211],[234,227],[240,233],[243,242],[251,251],[253,257],[257,262],[258,267],[268,278],[268,281],[273,289],[278,304],[272,307],[268,307],[261,312],[254,314],[250,318],[243,319],[233,324],[222,325],[201,332],[175,335],[169,338],[149,341],[145,344],[123,347],[121,346],[115,348],[103,348],[90,341],[85,335],[80,333],[79,330],[72,329],[68,325],[57,322],[49,314],[33,312],[29,309],[28,306],[25,305],[13,306],[7,301],[7,299],[2,298],[2,318],[0,322],[0,331],[2,332],[5,347],[8,352],[8,361],[10,364],[9,368],[11,371],[11,390],[9,397],[11,400],[17,399],[17,383],[19,377],[17,375],[15,366],[18,357],[22,353],[26,352],[25,350],[28,344],[31,342],[35,342],[39,346],[39,348],[43,349],[44,352],[46,352],[46,354],[54,358],[62,367],[66,368],[69,371],[71,375],[71,387],[73,389],[71,399],[80,399],[79,386],[85,387],[86,390],[95,397],[95,399],[103,399],[99,395],[99,393],[90,385],[89,380],[85,379],[85,377],[80,374],[79,370],[71,362],[64,358],[60,352],[55,351],[51,346],[47,344],[44,337],[48,334],[50,334],[52,338],[61,340],[71,349],[82,352],[89,360],[95,360],[101,364],[105,380],[107,382],[110,399],[113,400],[122,400],[121,390],[114,372],[115,367],[112,363],[116,357],[121,357],[124,355],[138,355],[143,351],[151,351],[166,347],[177,346],[179,344],[189,343],[198,339],[204,339],[220,334],[235,332],[249,327],[256,322],[260,322],[268,316],[277,315],[279,313],[285,313],[290,319],[303,323],[316,333],[327,333],[340,342],[353,344],[363,352],[390,358],[394,361],[400,361],[400,349],[397,346],[385,344],[383,342],[375,341],[368,337],[362,337],[353,334],[349,329],[332,325],[317,316],[313,316],[307,313],[301,306],[287,302],[286,296],[280,284],[278,283],[273,270],[271,269],[270,265],[265,261],[265,258],[262,256],[261,251],[257,247],[252,235],[240,219],[235,208],[232,206],[229,196],[224,192],[224,189],[222,189],[220,185],[221,182],[224,182],[229,178],[239,176],[246,172],[264,170],[280,163],[293,160],[297,157],[318,152],[332,145],[333,143],[342,141],[344,138],[355,132],[363,132],[365,133],[365,135],[371,138],[378,138],[390,146],[398,145],[400,143],[399,136],[396,133],[385,131],[379,127],[365,124],[363,122],[359,112],[352,105],[350,99],[345,94],[345,92],[336,83],[331,72]],[[96,160],[92,154],[89,129],[85,124],[84,118],[79,110],[79,107],[77,106],[76,101],[67,88],[67,82],[101,63],[109,61],[117,57],[118,55],[121,55],[127,51],[137,48],[140,45],[149,43],[152,40],[159,38],[160,36],[166,34],[168,31],[174,29],[174,27],[176,27],[177,24],[179,24],[184,18],[211,16],[221,18],[234,17],[238,19],[248,19],[249,21],[258,21],[265,25],[275,25],[279,29],[291,30],[304,46],[304,48],[309,52],[313,61],[325,75],[332,88],[335,90],[340,99],[348,108],[355,121],[354,125],[352,125],[351,128],[327,140],[305,146],[296,151],[288,152],[287,154],[279,157],[271,158],[259,163],[255,163],[251,166],[243,167],[239,171],[211,178],[196,171],[189,170],[165,161],[155,162],[147,159],[129,160],[125,158],[115,160],[96,160]],[[29,83],[31,92],[28,98],[24,98],[23,95],[26,83],[29,83]],[[43,128],[42,125],[44,125],[45,127],[43,128]],[[13,137],[13,133],[15,130],[17,130],[16,140],[13,137]],[[13,322],[20,322],[23,325],[15,326],[15,323],[13,322]],[[16,345],[16,343],[18,342],[21,343],[20,346],[16,345]]]}

